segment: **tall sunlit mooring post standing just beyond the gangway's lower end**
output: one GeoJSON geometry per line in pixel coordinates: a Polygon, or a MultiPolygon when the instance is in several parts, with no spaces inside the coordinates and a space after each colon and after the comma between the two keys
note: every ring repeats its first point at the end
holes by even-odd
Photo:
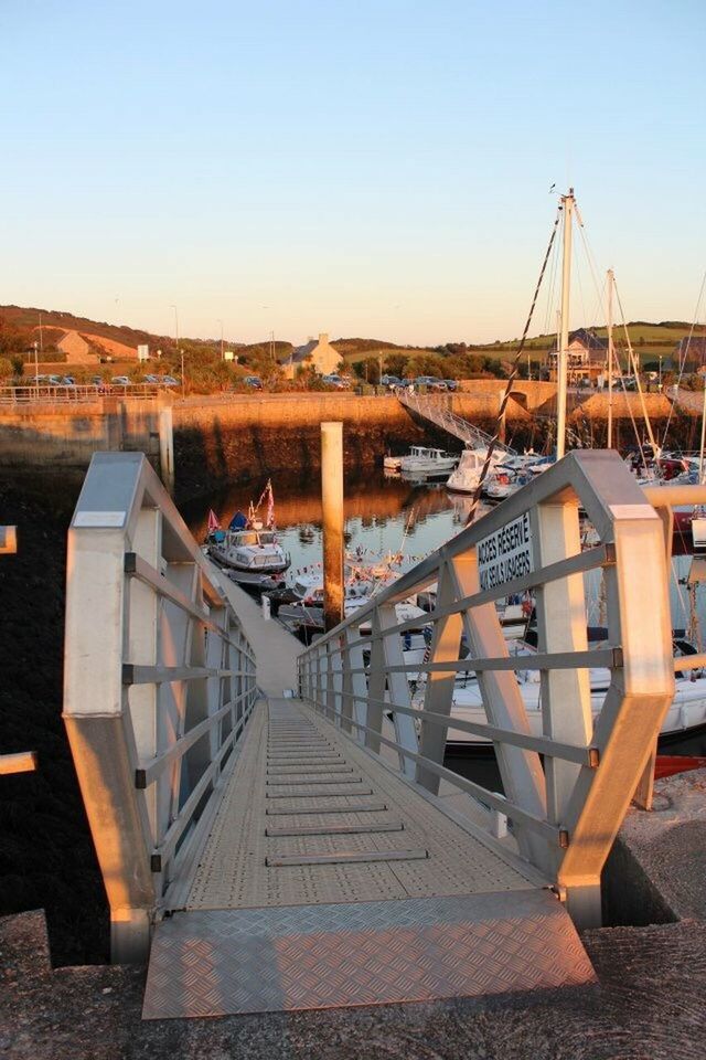
{"type": "Polygon", "coordinates": [[[343,424],[321,424],[323,507],[323,618],[325,629],[343,621],[343,424]]]}

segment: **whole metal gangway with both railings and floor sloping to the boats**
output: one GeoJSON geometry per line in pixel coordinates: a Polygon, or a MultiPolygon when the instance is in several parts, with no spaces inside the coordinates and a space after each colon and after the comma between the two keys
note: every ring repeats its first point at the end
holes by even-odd
{"type": "Polygon", "coordinates": [[[96,454],[69,529],[64,717],[113,957],[149,960],[143,1016],[593,982],[576,929],[600,923],[674,697],[670,544],[617,453],[571,453],[304,649],[211,566],[142,456],[96,454]],[[589,650],[597,575],[608,640],[589,650]],[[435,585],[409,659],[419,618],[396,605],[435,585]],[[495,608],[524,592],[534,655],[509,651],[495,608]],[[452,716],[459,676],[484,720],[452,716]],[[502,793],[445,761],[449,728],[492,743],[502,793]]]}

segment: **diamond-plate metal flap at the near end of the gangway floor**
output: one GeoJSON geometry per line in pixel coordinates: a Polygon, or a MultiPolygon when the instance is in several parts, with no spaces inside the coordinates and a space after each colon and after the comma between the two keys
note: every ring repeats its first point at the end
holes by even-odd
{"type": "Polygon", "coordinates": [[[157,928],[145,1019],[578,986],[595,974],[546,890],[175,913],[157,928]]]}

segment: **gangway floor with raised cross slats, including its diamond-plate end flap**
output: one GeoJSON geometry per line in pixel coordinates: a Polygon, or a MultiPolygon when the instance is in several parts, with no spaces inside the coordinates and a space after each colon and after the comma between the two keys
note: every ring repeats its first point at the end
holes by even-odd
{"type": "Polygon", "coordinates": [[[260,703],[199,868],[152,942],[143,1016],[592,981],[547,881],[298,700],[260,703]]]}

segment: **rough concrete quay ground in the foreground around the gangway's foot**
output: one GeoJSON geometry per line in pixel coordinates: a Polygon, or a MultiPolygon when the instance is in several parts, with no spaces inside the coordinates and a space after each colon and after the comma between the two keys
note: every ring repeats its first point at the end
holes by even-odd
{"type": "MultiPolygon", "coordinates": [[[[634,891],[632,907],[644,916],[672,922],[584,932],[598,986],[143,1021],[145,971],[53,969],[36,911],[0,920],[0,1052],[9,1060],[700,1060],[705,791],[706,770],[670,777],[656,784],[655,812],[630,812],[614,851],[630,872],[623,891],[634,891]],[[645,880],[652,904],[643,901],[645,880]]],[[[610,876],[609,862],[609,891],[610,876]]]]}

